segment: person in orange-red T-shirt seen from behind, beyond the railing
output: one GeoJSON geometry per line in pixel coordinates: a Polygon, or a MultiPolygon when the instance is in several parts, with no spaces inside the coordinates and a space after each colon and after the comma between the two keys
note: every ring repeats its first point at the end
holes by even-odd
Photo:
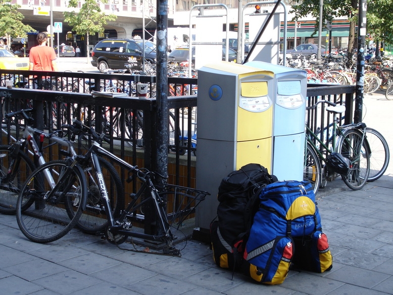
{"type": "MultiPolygon", "coordinates": [[[[56,53],[52,47],[46,46],[47,35],[44,32],[40,32],[37,35],[38,45],[30,49],[29,54],[29,70],[34,71],[58,71],[56,63],[56,53]]],[[[30,76],[33,78],[33,76],[30,76]]],[[[35,87],[42,89],[43,79],[45,76],[34,76],[36,79],[35,87]]]]}

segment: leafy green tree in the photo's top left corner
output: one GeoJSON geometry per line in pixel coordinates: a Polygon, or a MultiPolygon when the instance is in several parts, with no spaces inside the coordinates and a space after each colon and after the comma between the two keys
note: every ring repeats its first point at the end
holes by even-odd
{"type": "Polygon", "coordinates": [[[28,32],[35,31],[31,26],[22,23],[24,19],[17,4],[11,4],[12,0],[0,0],[0,35],[6,36],[8,44],[11,37],[25,37],[28,32]]]}

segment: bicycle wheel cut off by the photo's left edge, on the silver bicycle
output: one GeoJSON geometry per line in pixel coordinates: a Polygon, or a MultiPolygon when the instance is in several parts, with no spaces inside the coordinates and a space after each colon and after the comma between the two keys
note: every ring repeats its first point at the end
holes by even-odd
{"type": "MultiPolygon", "coordinates": [[[[0,213],[15,214],[16,201],[27,177],[34,171],[33,161],[22,151],[14,155],[15,147],[0,145],[0,213]],[[14,163],[12,163],[15,161],[14,163]],[[9,173],[10,165],[14,165],[9,173]]],[[[25,204],[29,206],[29,203],[25,204]]],[[[23,206],[25,206],[23,205],[23,206]]],[[[31,202],[30,202],[31,205],[31,202]]]]}

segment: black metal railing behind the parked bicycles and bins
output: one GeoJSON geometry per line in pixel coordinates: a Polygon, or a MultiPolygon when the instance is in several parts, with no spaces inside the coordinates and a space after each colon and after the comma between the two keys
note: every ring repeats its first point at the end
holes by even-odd
{"type": "MultiPolygon", "coordinates": [[[[154,133],[158,120],[155,76],[0,70],[0,77],[0,120],[3,123],[0,136],[3,144],[12,141],[13,132],[18,138],[19,128],[16,127],[24,123],[23,120],[7,121],[4,114],[33,107],[36,128],[53,131],[73,118],[82,120],[107,134],[111,152],[154,170],[158,161],[154,133]],[[33,81],[28,79],[30,75],[45,77],[43,87],[48,90],[30,89],[33,81]],[[5,87],[6,80],[13,81],[12,89],[5,87]],[[136,98],[137,83],[148,83],[149,96],[153,99],[136,98]],[[94,97],[93,90],[112,91],[112,94],[94,97]]],[[[197,86],[197,78],[168,77],[168,94],[173,95],[168,97],[168,182],[188,187],[195,187],[197,86]]],[[[345,103],[347,111],[342,118],[349,123],[354,113],[354,93],[354,86],[309,85],[307,105],[313,105],[319,99],[345,103]]],[[[203,114],[199,116],[203,119],[203,114]]],[[[312,130],[324,129],[330,123],[324,117],[324,109],[308,111],[306,121],[312,130]]]]}

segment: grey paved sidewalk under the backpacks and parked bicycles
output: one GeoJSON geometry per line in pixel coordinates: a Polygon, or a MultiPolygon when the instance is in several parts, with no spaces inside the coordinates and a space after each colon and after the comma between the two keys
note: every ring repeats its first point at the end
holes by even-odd
{"type": "MultiPolygon", "coordinates": [[[[341,182],[339,179],[335,182],[341,182]]],[[[335,183],[329,183],[333,186],[335,183]]],[[[281,285],[219,269],[208,244],[178,244],[182,257],[132,252],[74,229],[50,244],[27,240],[0,215],[2,294],[393,294],[393,177],[363,190],[317,196],[333,255],[331,271],[290,271],[281,285]]]]}

